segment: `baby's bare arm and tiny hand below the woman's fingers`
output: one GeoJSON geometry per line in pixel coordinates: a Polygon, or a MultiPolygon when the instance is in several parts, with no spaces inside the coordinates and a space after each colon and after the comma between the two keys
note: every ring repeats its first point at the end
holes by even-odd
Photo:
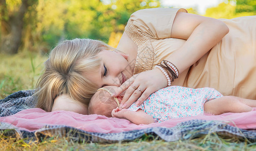
{"type": "Polygon", "coordinates": [[[112,110],[111,114],[112,114],[112,117],[127,119],[137,125],[150,124],[155,122],[152,116],[148,115],[141,109],[135,112],[135,111],[130,111],[127,109],[122,109],[117,107],[112,110]]]}

